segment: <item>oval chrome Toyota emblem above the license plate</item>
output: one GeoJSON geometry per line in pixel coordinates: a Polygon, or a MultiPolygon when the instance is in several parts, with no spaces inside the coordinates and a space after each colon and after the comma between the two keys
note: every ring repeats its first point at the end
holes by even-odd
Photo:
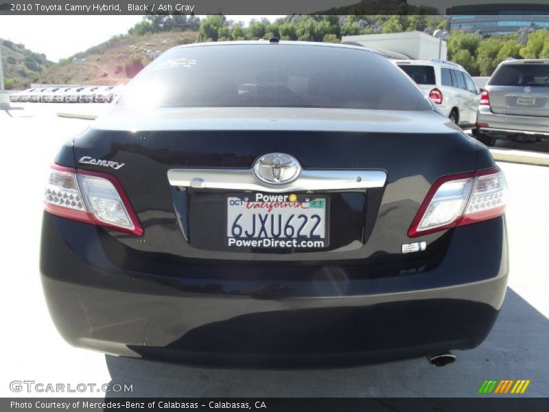
{"type": "Polygon", "coordinates": [[[285,153],[268,153],[257,159],[253,171],[260,181],[283,185],[297,179],[301,166],[293,156],[285,153]]]}

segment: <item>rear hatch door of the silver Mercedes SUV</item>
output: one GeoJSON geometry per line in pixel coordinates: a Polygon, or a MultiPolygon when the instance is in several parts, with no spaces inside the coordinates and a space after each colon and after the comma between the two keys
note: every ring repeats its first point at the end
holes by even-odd
{"type": "Polygon", "coordinates": [[[493,113],[549,116],[549,61],[500,65],[487,87],[493,113]]]}

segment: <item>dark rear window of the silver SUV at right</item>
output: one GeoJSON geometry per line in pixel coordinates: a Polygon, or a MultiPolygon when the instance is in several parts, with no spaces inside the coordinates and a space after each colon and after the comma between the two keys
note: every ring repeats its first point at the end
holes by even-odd
{"type": "Polygon", "coordinates": [[[549,65],[501,65],[493,73],[491,86],[549,86],[549,65]]]}

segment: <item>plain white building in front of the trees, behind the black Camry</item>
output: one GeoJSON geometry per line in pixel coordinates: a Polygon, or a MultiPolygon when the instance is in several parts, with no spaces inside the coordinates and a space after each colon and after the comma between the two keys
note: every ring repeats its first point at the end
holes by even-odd
{"type": "MultiPolygon", "coordinates": [[[[396,52],[417,60],[439,58],[439,42],[438,38],[423,32],[359,34],[358,36],[343,36],[341,40],[341,43],[358,43],[379,50],[389,58],[392,57],[390,52],[396,52]]],[[[441,44],[440,58],[446,60],[445,41],[442,41],[441,44]]]]}

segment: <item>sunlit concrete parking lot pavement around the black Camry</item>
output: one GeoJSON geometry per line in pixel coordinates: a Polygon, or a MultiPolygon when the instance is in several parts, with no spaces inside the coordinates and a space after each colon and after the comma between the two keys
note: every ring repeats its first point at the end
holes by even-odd
{"type": "MultiPolygon", "coordinates": [[[[51,323],[38,280],[47,168],[59,144],[89,124],[56,117],[60,106],[25,108],[14,112],[13,118],[0,111],[0,242],[5,268],[0,349],[6,355],[0,369],[0,396],[63,396],[10,391],[12,380],[34,380],[74,386],[126,383],[133,385],[131,396],[468,397],[476,396],[484,379],[530,379],[526,395],[549,396],[549,168],[534,165],[500,163],[509,183],[510,288],[487,341],[476,350],[456,352],[458,360],[448,367],[435,368],[425,359],[415,359],[341,369],[216,369],[117,358],[70,347],[51,323]]],[[[509,145],[518,146],[498,146],[509,145]]],[[[528,149],[549,152],[539,146],[528,149]]],[[[102,391],[83,394],[105,395],[102,391]]]]}

